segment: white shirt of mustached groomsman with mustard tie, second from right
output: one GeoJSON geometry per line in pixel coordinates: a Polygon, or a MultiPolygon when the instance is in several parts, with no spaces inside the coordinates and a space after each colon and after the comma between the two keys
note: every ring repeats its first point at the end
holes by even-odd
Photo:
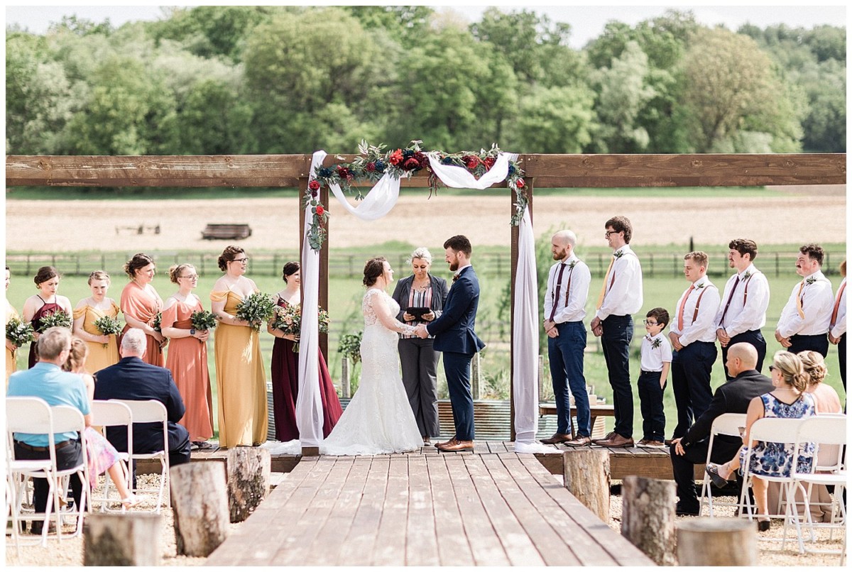
{"type": "Polygon", "coordinates": [[[796,334],[825,334],[828,331],[828,323],[832,319],[833,309],[832,283],[828,281],[821,270],[818,270],[793,286],[790,299],[787,300],[778,320],[778,333],[784,338],[796,334]],[[801,294],[804,319],[798,315],[796,306],[799,286],[802,283],[804,283],[801,294]]]}

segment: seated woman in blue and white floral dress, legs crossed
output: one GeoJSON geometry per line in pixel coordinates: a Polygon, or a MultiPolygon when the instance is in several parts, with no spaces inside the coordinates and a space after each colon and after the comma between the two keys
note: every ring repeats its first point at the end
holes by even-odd
{"type": "MultiPolygon", "coordinates": [[[[746,459],[746,452],[751,444],[751,458],[749,460],[749,472],[751,473],[751,489],[754,491],[754,500],[757,504],[757,529],[769,530],[769,512],[767,501],[767,481],[760,478],[766,477],[789,477],[792,469],[793,444],[772,443],[763,441],[752,441],[750,438],[751,426],[758,419],[764,417],[779,417],[782,419],[802,419],[816,415],[814,398],[806,393],[808,388],[808,375],[804,372],[802,360],[794,353],[775,352],[773,363],[769,367],[772,372],[773,391],[764,393],[751,400],[748,405],[746,417],[746,434],[743,436],[743,446],[740,454],[734,456],[723,465],[709,464],[706,471],[711,475],[713,481],[725,479],[740,468],[746,459]]],[[[796,472],[810,472],[811,463],[814,460],[815,446],[808,443],[802,449],[802,455],[798,458],[796,472]]]]}

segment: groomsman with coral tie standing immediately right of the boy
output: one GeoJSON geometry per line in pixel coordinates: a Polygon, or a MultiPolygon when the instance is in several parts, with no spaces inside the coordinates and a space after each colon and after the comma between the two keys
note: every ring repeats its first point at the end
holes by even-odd
{"type": "Polygon", "coordinates": [[[671,388],[675,393],[677,425],[672,438],[681,438],[710,407],[710,375],[717,358],[716,312],[719,289],[707,277],[707,253],[683,257],[683,275],[691,282],[677,300],[671,320],[671,388]]]}

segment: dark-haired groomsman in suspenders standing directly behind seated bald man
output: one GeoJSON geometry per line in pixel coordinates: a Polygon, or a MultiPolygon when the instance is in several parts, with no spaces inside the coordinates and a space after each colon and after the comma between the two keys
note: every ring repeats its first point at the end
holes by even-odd
{"type": "MultiPolygon", "coordinates": [[[[722,363],[728,363],[728,348],[745,341],[757,350],[757,371],[763,369],[766,340],[760,329],[766,325],[769,307],[769,281],[754,266],[757,243],[748,238],[734,238],[728,243],[728,266],[736,273],[728,278],[722,304],[716,314],[716,336],[722,346],[722,363]]],[[[728,369],[725,377],[733,380],[728,369]]]]}

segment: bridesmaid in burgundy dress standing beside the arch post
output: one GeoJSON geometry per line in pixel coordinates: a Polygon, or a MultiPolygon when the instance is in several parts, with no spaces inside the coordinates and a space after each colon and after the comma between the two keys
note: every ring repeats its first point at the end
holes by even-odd
{"type": "MultiPolygon", "coordinates": [[[[283,270],[286,288],[275,297],[278,306],[286,307],[300,303],[302,277],[298,262],[288,262],[283,270]]],[[[267,331],[275,337],[272,349],[272,396],[275,412],[275,438],[279,441],[292,441],[299,438],[296,426],[296,398],[299,393],[299,354],[293,352],[298,336],[285,334],[267,324],[267,331]]],[[[331,383],[331,375],[320,354],[320,399],[323,409],[323,437],[328,437],[337,424],[343,409],[337,399],[337,390],[331,383]]]]}

